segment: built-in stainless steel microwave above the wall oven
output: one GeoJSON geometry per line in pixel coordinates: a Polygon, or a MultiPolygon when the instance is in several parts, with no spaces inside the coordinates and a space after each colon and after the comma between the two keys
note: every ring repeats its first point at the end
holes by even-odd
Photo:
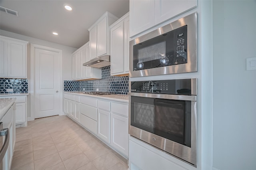
{"type": "Polygon", "coordinates": [[[197,71],[197,12],[130,41],[130,77],[197,71]]]}

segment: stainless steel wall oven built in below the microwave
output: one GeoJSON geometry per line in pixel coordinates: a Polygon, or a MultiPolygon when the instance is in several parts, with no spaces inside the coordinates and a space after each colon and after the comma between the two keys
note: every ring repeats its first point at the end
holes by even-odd
{"type": "Polygon", "coordinates": [[[196,166],[197,79],[131,81],[129,134],[196,166]]]}

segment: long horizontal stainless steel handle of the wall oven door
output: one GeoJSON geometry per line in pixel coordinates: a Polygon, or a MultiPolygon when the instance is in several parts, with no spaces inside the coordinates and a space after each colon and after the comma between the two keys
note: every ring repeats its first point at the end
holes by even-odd
{"type": "Polygon", "coordinates": [[[172,100],[183,100],[183,101],[196,101],[196,95],[170,95],[170,94],[158,94],[158,93],[135,93],[128,92],[129,96],[136,97],[149,97],[155,99],[172,99],[172,100]]]}

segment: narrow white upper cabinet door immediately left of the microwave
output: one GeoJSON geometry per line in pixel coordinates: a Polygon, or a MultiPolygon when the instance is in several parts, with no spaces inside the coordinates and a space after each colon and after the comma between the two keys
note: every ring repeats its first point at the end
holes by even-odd
{"type": "Polygon", "coordinates": [[[124,73],[129,73],[130,18],[124,20],[124,73]]]}

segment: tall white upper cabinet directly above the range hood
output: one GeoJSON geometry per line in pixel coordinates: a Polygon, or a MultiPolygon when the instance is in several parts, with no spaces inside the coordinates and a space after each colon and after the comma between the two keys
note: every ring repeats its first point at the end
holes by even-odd
{"type": "Polygon", "coordinates": [[[109,26],[118,18],[109,12],[100,17],[88,30],[90,38],[90,60],[102,55],[110,55],[109,26]]]}

